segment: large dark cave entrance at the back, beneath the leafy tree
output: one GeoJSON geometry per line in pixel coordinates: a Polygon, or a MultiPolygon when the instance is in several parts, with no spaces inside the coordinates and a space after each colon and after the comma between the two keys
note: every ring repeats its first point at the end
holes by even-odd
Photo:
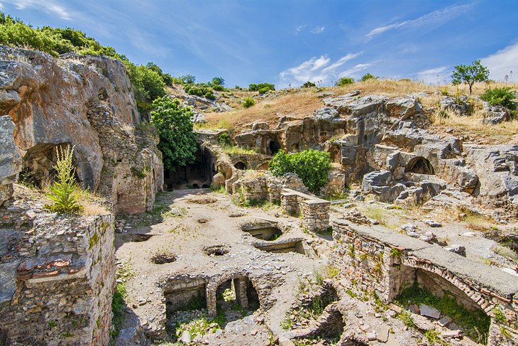
{"type": "Polygon", "coordinates": [[[193,163],[177,168],[176,171],[164,170],[165,188],[209,188],[216,173],[214,155],[208,148],[198,147],[193,163]]]}

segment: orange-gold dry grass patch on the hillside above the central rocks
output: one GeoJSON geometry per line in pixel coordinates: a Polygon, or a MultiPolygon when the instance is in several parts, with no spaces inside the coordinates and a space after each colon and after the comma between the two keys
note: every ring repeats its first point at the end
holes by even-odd
{"type": "Polygon", "coordinates": [[[302,119],[324,106],[316,92],[297,92],[285,94],[276,99],[256,100],[256,104],[248,109],[238,109],[233,112],[205,114],[207,123],[202,127],[231,129],[253,121],[266,121],[276,124],[277,114],[302,119]]]}

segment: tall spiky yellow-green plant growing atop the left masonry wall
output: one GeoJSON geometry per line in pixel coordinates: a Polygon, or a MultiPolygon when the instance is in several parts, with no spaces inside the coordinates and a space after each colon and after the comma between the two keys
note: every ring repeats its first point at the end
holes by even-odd
{"type": "Polygon", "coordinates": [[[53,168],[56,170],[56,180],[49,186],[50,193],[47,197],[53,201],[52,205],[48,205],[48,209],[53,212],[71,214],[82,210],[81,205],[77,202],[78,195],[76,193],[75,167],[72,164],[72,156],[74,147],[65,148],[57,147],[57,162],[53,168]]]}

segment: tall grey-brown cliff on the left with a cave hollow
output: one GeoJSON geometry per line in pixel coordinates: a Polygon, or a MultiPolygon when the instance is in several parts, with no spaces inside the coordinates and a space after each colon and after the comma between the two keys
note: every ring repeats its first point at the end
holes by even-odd
{"type": "Polygon", "coordinates": [[[154,137],[136,131],[140,116],[123,63],[5,46],[0,59],[0,114],[16,125],[24,178],[45,183],[55,148],[70,144],[79,182],[111,198],[116,212],[153,205],[162,188],[161,156],[154,137]]]}

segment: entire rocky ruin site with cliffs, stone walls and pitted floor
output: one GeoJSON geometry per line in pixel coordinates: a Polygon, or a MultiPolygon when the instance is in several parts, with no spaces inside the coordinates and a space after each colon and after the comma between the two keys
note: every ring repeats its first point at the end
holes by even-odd
{"type": "Polygon", "coordinates": [[[198,128],[173,169],[128,68],[0,46],[0,345],[518,345],[516,135],[432,119],[469,100],[473,121],[514,124],[505,109],[432,87],[173,84],[198,128]],[[301,94],[314,109],[268,113],[301,94]],[[72,212],[53,209],[65,149],[72,212]],[[272,169],[309,151],[321,185],[272,169]]]}

